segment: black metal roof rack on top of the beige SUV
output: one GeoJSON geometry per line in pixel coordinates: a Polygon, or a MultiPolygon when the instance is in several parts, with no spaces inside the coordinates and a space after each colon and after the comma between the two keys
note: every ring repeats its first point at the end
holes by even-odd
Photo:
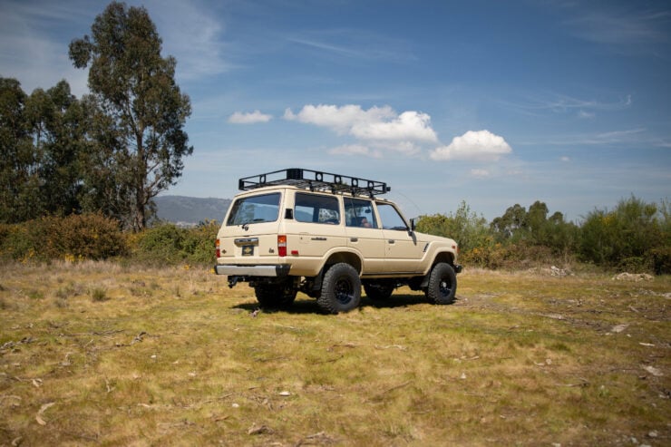
{"type": "Polygon", "coordinates": [[[327,190],[332,193],[349,192],[353,196],[367,195],[371,198],[376,194],[384,194],[391,190],[382,181],[300,168],[275,170],[238,180],[238,188],[243,191],[274,185],[291,185],[310,190],[327,190]]]}

